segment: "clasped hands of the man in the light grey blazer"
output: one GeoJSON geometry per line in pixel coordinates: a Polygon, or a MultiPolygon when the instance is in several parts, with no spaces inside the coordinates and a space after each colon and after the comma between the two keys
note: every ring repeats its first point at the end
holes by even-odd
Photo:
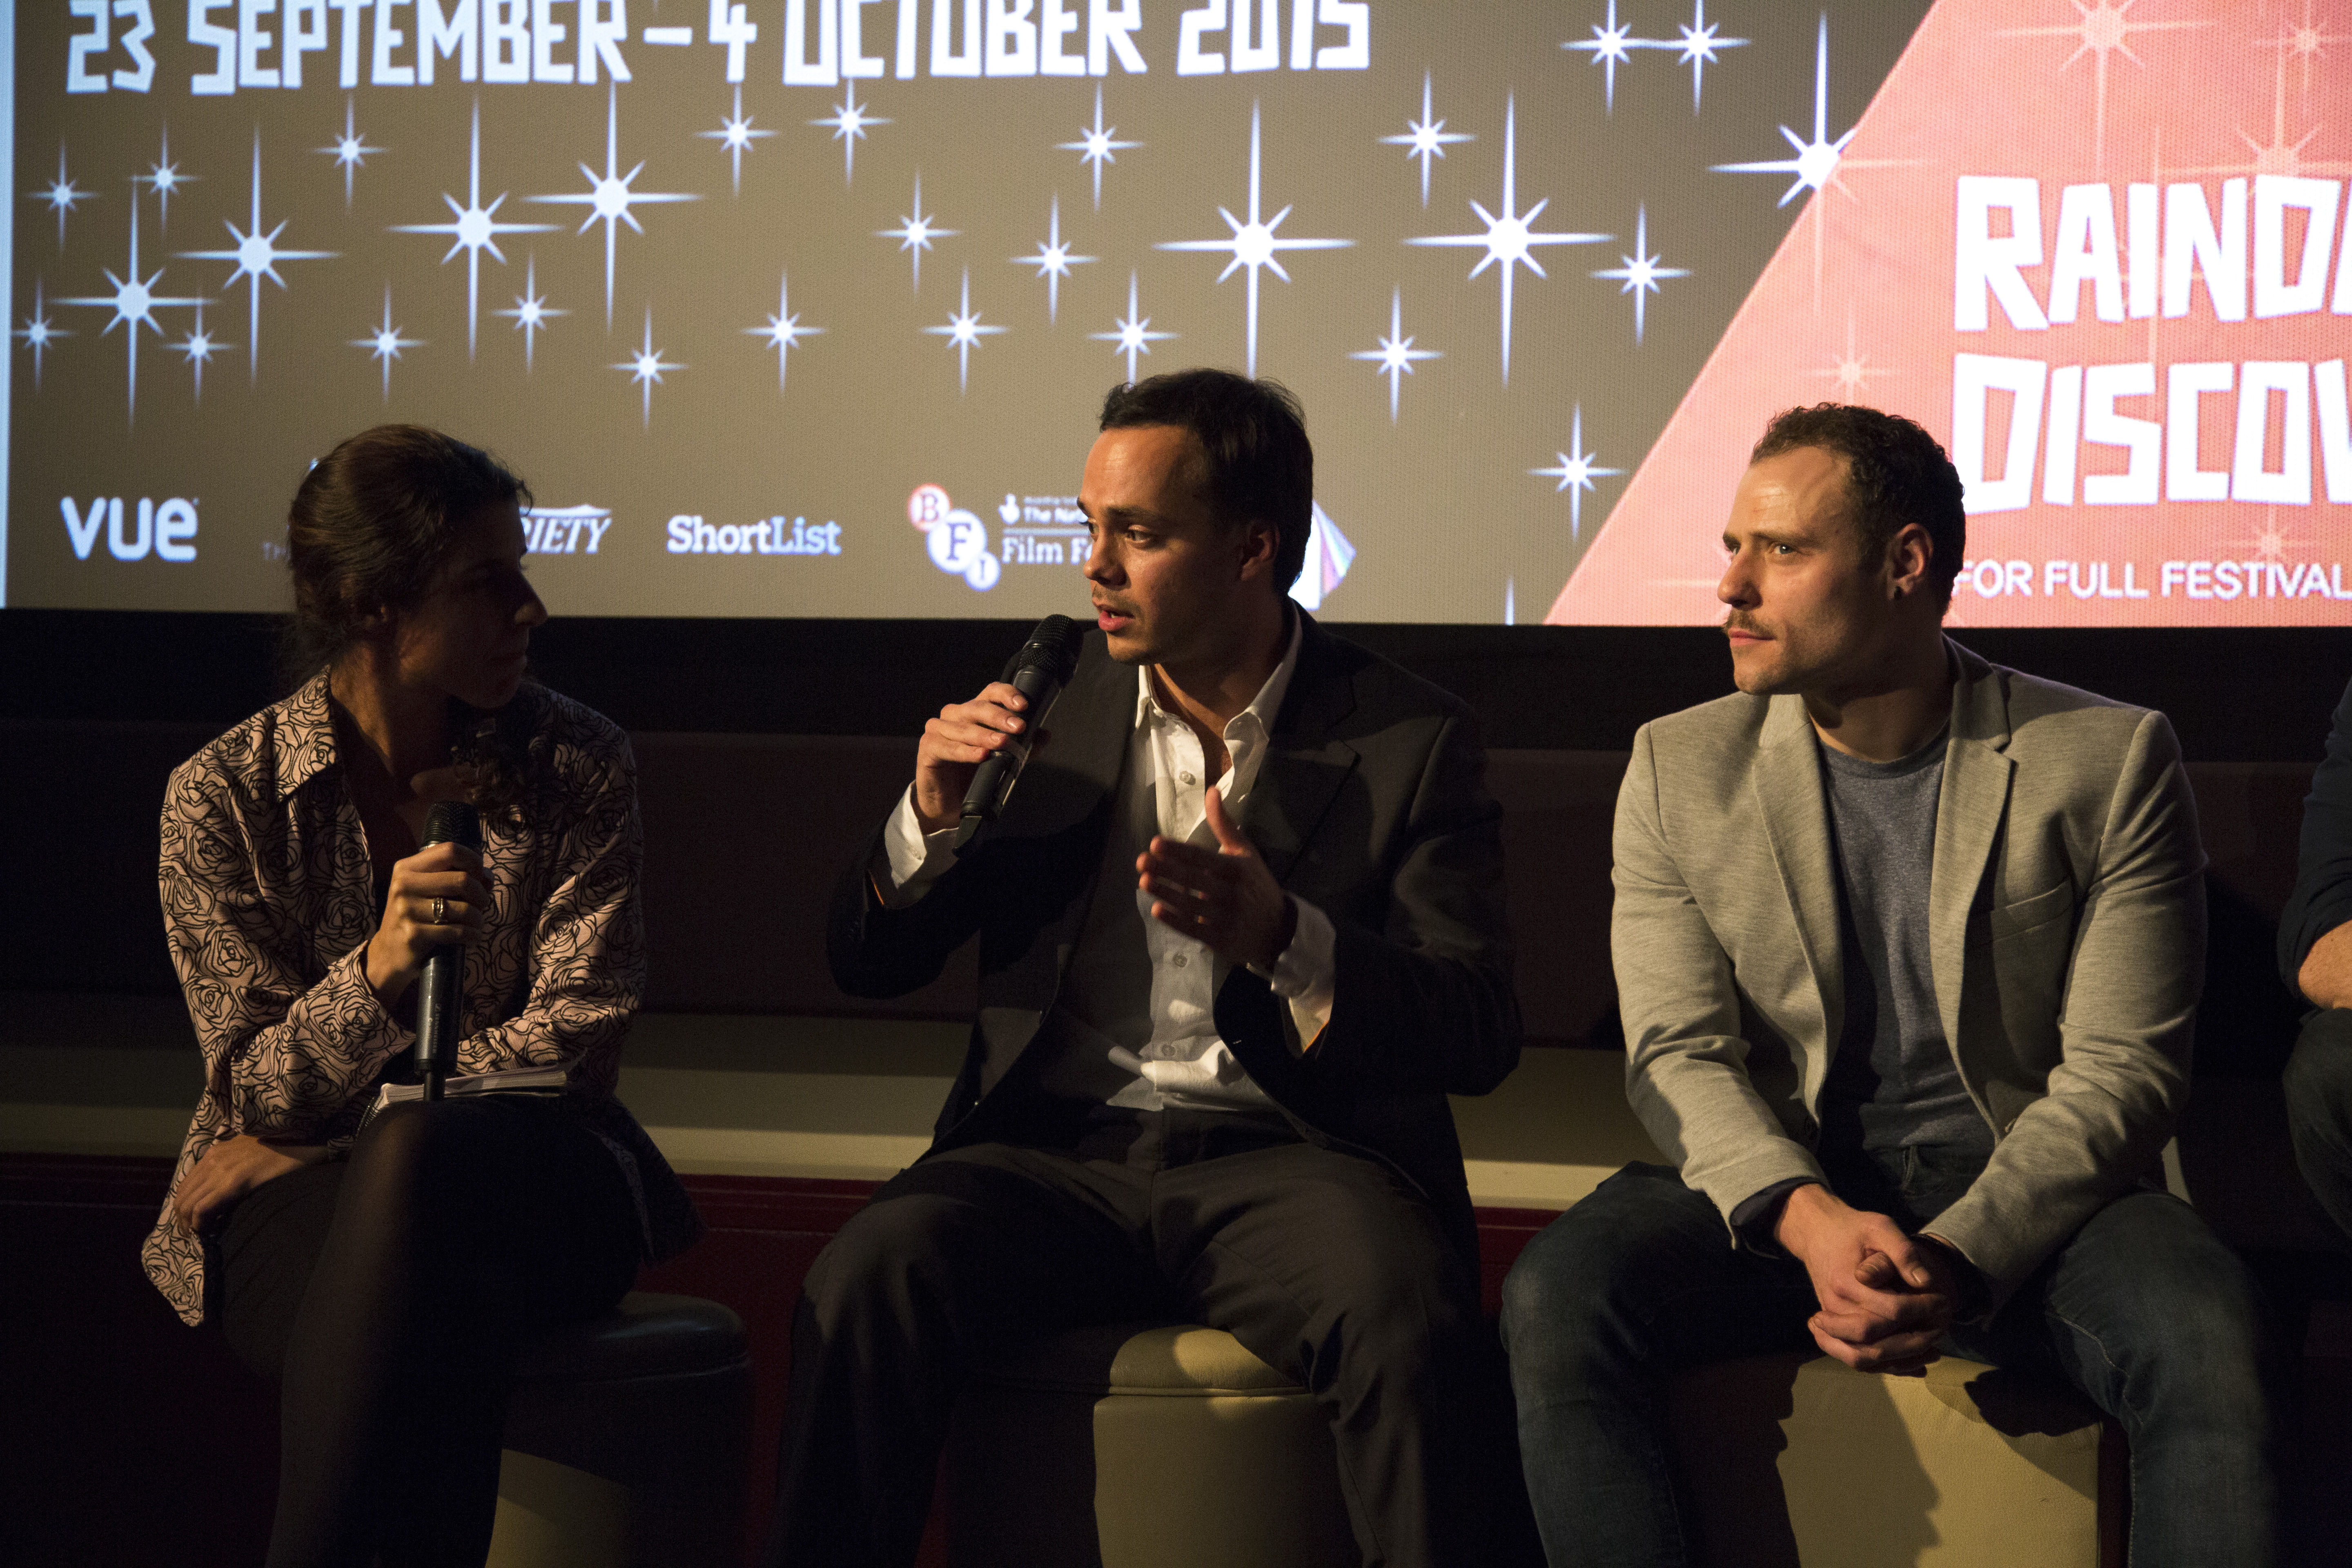
{"type": "Polygon", "coordinates": [[[1917,1373],[1936,1359],[1959,1300],[1943,1248],[1818,1185],[1788,1194],[1773,1237],[1813,1276],[1820,1312],[1806,1326],[1828,1354],[1863,1373],[1917,1373]]]}

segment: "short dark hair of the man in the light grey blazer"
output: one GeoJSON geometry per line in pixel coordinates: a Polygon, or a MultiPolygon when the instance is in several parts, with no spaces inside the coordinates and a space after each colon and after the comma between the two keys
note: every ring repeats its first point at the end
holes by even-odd
{"type": "Polygon", "coordinates": [[[1929,583],[1943,604],[1952,602],[1952,578],[1969,548],[1969,512],[1962,505],[1959,470],[1936,437],[1917,421],[1851,402],[1816,402],[1783,409],[1764,425],[1750,463],[1799,447],[1820,447],[1846,458],[1846,512],[1863,536],[1863,552],[1879,555],[1898,529],[1917,522],[1933,555],[1929,583]]]}

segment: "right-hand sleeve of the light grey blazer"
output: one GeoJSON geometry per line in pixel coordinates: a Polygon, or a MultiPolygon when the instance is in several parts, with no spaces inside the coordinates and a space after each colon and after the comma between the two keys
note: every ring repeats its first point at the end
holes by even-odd
{"type": "MultiPolygon", "coordinates": [[[[2204,844],[2161,712],[2131,736],[2074,924],[2046,1093],[2009,1124],[1976,1185],[1936,1218],[2006,1298],[2152,1171],[2190,1093],[2204,987],[2204,844]]],[[[2009,940],[2063,940],[2020,931],[2009,940]]],[[[1999,964],[1999,943],[1987,954],[1999,964]]],[[[1973,954],[1971,954],[1973,957],[1973,954]]]]}

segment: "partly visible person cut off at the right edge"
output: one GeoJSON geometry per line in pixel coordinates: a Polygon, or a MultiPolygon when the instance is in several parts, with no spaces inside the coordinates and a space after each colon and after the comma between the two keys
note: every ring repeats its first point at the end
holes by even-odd
{"type": "Polygon", "coordinates": [[[2286,1126],[2303,1180],[2352,1234],[2352,686],[2303,799],[2296,891],[2279,917],[2279,973],[2312,1004],[2286,1063],[2286,1126]]]}

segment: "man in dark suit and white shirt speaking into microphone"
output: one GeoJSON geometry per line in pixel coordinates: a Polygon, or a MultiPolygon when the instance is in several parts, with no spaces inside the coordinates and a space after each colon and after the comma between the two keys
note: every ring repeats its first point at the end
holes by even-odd
{"type": "Polygon", "coordinates": [[[910,1563],[964,1368],[1141,1316],[1322,1399],[1367,1563],[1491,1561],[1475,1413],[1508,1425],[1446,1095],[1512,1070],[1519,1011],[1472,717],[1289,602],[1282,388],[1115,388],[1080,503],[1098,630],[1004,813],[955,849],[1035,719],[997,682],[924,729],[833,905],[844,990],[976,936],[981,994],[936,1143],[809,1269],[767,1563],[910,1563]]]}

